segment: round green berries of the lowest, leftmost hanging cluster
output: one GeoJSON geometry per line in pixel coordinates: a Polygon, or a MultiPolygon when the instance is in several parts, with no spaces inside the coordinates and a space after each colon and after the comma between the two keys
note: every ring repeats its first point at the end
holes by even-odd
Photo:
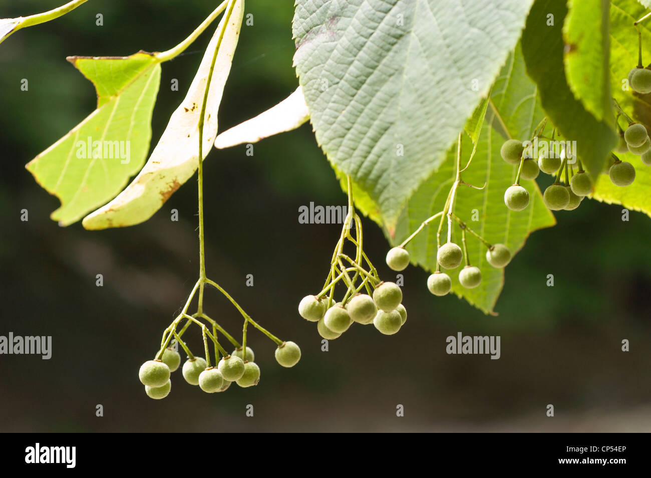
{"type": "MultiPolygon", "coordinates": [[[[275,351],[276,361],[283,367],[293,367],[301,358],[301,349],[294,342],[283,342],[275,351]]],[[[240,387],[251,387],[260,381],[260,367],[253,361],[251,347],[241,346],[222,357],[217,367],[210,367],[206,359],[190,356],[182,367],[183,378],[190,385],[198,385],[206,393],[225,391],[235,382],[240,387]]],[[[138,376],[145,393],[152,399],[164,399],[169,394],[171,372],[181,364],[180,354],[165,348],[160,359],[148,360],[140,367],[138,376]]]]}

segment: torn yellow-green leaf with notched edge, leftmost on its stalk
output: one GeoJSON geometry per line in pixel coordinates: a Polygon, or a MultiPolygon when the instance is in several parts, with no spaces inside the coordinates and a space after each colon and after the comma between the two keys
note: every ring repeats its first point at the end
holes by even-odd
{"type": "Polygon", "coordinates": [[[66,226],[115,197],[145,162],[160,64],[150,53],[69,57],[96,88],[98,107],[27,164],[61,200],[51,218],[66,226]]]}

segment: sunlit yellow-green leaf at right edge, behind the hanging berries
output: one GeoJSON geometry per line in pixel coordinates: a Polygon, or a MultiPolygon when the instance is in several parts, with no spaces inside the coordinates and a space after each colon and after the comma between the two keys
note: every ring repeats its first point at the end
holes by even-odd
{"type": "MultiPolygon", "coordinates": [[[[651,126],[651,94],[638,94],[628,88],[628,72],[637,65],[637,30],[633,22],[639,20],[648,10],[636,0],[613,0],[610,8],[611,64],[610,84],[613,97],[634,120],[651,126]]],[[[645,64],[651,54],[651,30],[649,20],[640,25],[642,51],[645,64]]],[[[620,119],[626,127],[626,121],[620,119]]],[[[635,154],[620,154],[622,161],[635,166],[635,181],[626,188],[615,186],[608,176],[600,175],[594,188],[593,199],[608,204],[622,204],[628,209],[644,212],[651,216],[651,167],[645,166],[635,154]]]]}

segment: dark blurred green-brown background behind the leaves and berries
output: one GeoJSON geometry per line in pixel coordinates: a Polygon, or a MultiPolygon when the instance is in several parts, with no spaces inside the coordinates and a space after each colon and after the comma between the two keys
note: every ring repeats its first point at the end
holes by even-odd
{"type": "MultiPolygon", "coordinates": [[[[0,0],[0,17],[62,0],[0,0]]],[[[506,269],[497,316],[454,296],[435,298],[428,273],[405,271],[409,318],[397,335],[355,326],[321,351],[315,324],[298,316],[322,287],[338,225],[301,225],[299,206],[345,204],[311,127],[213,151],[205,165],[208,275],[260,324],[300,344],[283,369],[275,346],[252,331],[257,387],[208,395],[173,374],[163,401],[146,397],[141,363],[186,300],[198,273],[196,176],[146,223],[127,229],[61,228],[59,201],[24,169],[95,107],[92,84],[68,55],[162,51],[185,38],[218,1],[91,0],[0,45],[0,335],[51,335],[53,354],[0,356],[0,431],[651,430],[651,219],[584,201],[534,232],[506,269]],[[95,16],[104,15],[104,26],[95,16]],[[29,91],[20,91],[21,78],[29,91]],[[20,210],[29,221],[20,221],[20,210]],[[180,220],[170,220],[170,210],[180,220]],[[104,287],[96,287],[96,274],[104,287]],[[253,274],[254,287],[245,277],[253,274]],[[546,287],[554,274],[555,287],[546,287]],[[500,335],[501,358],[445,353],[445,339],[500,335]],[[622,339],[630,352],[621,351],[622,339]],[[96,404],[104,417],[96,417],[96,404]],[[245,416],[253,404],[255,416],[245,416]],[[404,417],[396,417],[396,405],[404,417]],[[546,416],[547,404],[555,417],[546,416]]],[[[220,130],[276,104],[298,85],[292,1],[248,1],[219,114],[220,130]]],[[[216,23],[215,25],[216,26],[216,23]]],[[[152,147],[180,103],[214,28],[163,64],[152,147]],[[170,91],[178,78],[180,91],[170,91]]],[[[383,277],[388,244],[365,219],[365,249],[383,277]]],[[[242,322],[214,291],[206,309],[232,333],[242,322]]],[[[202,355],[201,337],[188,334],[202,355]]]]}

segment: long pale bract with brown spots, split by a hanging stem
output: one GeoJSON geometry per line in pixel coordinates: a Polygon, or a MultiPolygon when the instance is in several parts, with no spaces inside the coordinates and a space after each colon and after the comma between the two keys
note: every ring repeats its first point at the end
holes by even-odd
{"type": "Polygon", "coordinates": [[[238,0],[230,16],[225,14],[219,22],[186,98],[172,114],[145,167],[113,201],[86,216],[83,227],[106,229],[146,221],[195,173],[199,166],[199,117],[215,49],[217,58],[204,116],[203,158],[217,136],[217,111],[240,36],[242,16],[243,1],[238,0]]]}

